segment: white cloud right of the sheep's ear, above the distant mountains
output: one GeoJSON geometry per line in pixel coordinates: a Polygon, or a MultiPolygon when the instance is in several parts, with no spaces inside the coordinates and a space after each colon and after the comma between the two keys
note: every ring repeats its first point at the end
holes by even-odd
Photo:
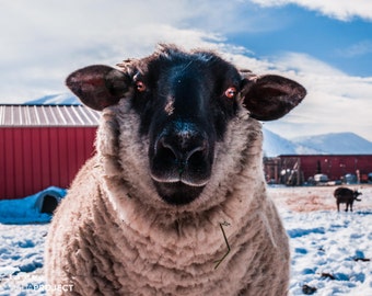
{"type": "Polygon", "coordinates": [[[281,75],[301,82],[307,95],[289,115],[267,123],[270,130],[289,138],[299,134],[353,132],[372,140],[372,77],[349,76],[297,53],[277,57],[274,64],[281,75]]]}

